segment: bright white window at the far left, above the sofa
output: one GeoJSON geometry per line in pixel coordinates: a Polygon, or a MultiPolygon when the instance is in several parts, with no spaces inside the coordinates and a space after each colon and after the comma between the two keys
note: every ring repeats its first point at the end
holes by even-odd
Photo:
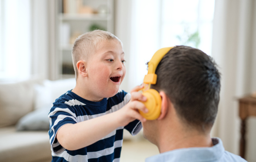
{"type": "Polygon", "coordinates": [[[0,1],[0,81],[30,77],[30,10],[29,0],[0,1]]]}

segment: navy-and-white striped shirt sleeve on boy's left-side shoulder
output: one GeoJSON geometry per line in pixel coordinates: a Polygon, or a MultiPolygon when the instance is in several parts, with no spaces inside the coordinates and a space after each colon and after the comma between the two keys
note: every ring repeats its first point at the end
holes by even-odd
{"type": "Polygon", "coordinates": [[[49,138],[52,153],[62,153],[65,148],[56,139],[56,134],[63,125],[77,123],[75,110],[72,106],[66,104],[65,101],[56,100],[52,104],[48,118],[50,122],[49,138]]]}

